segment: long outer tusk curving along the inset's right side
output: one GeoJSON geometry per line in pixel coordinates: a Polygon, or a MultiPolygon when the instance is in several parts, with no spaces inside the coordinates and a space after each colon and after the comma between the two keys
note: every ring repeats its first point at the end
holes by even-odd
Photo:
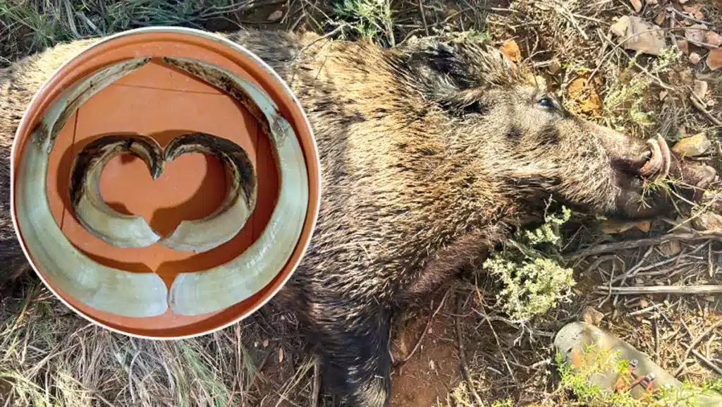
{"type": "Polygon", "coordinates": [[[179,274],[170,287],[176,314],[217,312],[256,294],[291,257],[305,223],[308,173],[303,150],[288,121],[250,82],[194,59],[164,58],[168,64],[216,85],[242,103],[269,136],[279,168],[277,204],[261,236],[230,262],[197,273],[179,274]]]}

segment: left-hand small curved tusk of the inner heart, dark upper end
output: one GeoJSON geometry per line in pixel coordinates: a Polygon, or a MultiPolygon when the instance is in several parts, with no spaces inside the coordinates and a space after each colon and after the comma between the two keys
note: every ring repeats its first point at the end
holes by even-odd
{"type": "Polygon", "coordinates": [[[163,171],[160,145],[141,135],[109,135],[87,144],[76,156],[70,178],[70,202],[90,234],[116,247],[147,247],[160,239],[140,215],[113,210],[100,195],[100,174],[108,161],[131,154],[144,161],[153,179],[163,171]]]}

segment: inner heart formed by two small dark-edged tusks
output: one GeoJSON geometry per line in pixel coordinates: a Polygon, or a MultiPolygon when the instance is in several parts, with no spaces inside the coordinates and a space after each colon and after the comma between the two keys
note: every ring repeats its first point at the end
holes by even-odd
{"type": "Polygon", "coordinates": [[[206,252],[233,238],[256,207],[256,171],[243,147],[222,137],[201,132],[183,134],[163,150],[152,137],[116,135],[100,137],[76,156],[70,176],[70,202],[79,223],[93,236],[116,247],[147,247],[159,243],[170,249],[206,252]],[[183,220],[173,234],[161,239],[140,215],[113,210],[100,194],[100,174],[118,155],[130,154],[144,161],[157,179],[166,161],[186,153],[216,157],[226,174],[226,197],[205,218],[183,220]]]}

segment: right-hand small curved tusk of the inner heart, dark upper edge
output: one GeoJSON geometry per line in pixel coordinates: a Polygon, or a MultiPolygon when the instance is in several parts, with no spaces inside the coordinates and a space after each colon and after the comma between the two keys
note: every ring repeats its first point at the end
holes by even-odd
{"type": "Polygon", "coordinates": [[[212,134],[185,134],[165,147],[164,159],[185,153],[214,155],[225,167],[227,193],[221,206],[197,220],[183,220],[160,244],[170,249],[206,252],[237,235],[256,207],[256,171],[243,147],[212,134]]]}

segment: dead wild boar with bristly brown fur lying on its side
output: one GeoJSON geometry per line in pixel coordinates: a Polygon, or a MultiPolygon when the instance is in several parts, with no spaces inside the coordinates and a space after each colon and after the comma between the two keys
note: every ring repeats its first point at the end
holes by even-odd
{"type": "MultiPolygon", "coordinates": [[[[277,301],[295,304],[324,385],[344,406],[388,405],[392,312],[541,214],[545,199],[622,218],[669,209],[664,196],[637,202],[643,142],[570,115],[483,44],[428,38],[383,50],[255,30],[227,38],[290,84],[317,137],[318,226],[277,301]]],[[[14,131],[40,84],[92,41],[0,71],[6,265],[25,261],[9,215],[14,131]]]]}

